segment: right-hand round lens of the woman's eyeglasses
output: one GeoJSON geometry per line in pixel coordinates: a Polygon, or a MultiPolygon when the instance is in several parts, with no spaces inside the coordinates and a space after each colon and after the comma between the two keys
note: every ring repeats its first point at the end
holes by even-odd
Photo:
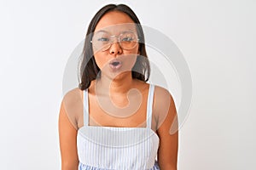
{"type": "Polygon", "coordinates": [[[124,49],[132,49],[137,45],[137,35],[134,32],[127,31],[120,36],[120,45],[124,49]]]}

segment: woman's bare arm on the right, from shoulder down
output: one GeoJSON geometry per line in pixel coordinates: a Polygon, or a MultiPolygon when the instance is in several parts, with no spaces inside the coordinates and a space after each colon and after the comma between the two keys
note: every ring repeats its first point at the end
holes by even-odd
{"type": "Polygon", "coordinates": [[[165,88],[156,88],[157,133],[160,137],[158,161],[160,169],[177,169],[178,123],[172,95],[165,88]]]}

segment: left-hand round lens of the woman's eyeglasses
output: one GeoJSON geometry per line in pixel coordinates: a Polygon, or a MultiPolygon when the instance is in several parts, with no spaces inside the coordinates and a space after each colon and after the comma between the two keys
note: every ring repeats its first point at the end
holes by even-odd
{"type": "Polygon", "coordinates": [[[111,44],[110,35],[107,32],[100,31],[96,32],[96,34],[92,37],[92,45],[98,50],[107,50],[111,44]]]}

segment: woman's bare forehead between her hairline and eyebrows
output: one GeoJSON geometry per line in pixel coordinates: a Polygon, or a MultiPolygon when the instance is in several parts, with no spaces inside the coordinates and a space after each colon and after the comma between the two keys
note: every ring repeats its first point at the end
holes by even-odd
{"type": "Polygon", "coordinates": [[[136,24],[131,18],[122,12],[111,11],[102,16],[96,25],[96,31],[108,31],[113,34],[118,34],[122,31],[136,31],[136,24]]]}

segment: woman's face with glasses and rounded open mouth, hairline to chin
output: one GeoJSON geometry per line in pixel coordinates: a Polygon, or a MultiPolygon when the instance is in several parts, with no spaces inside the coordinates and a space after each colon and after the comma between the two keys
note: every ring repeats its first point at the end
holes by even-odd
{"type": "Polygon", "coordinates": [[[131,73],[139,54],[135,23],[125,13],[108,12],[96,25],[92,47],[103,75],[113,78],[131,73]]]}

